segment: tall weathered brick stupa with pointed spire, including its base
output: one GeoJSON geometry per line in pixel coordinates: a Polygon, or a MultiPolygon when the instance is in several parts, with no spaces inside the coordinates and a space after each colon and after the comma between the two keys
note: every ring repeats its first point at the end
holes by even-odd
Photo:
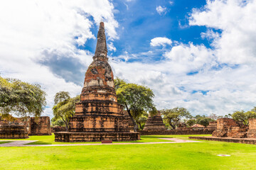
{"type": "Polygon", "coordinates": [[[75,105],[68,132],[55,132],[56,142],[140,139],[138,132],[129,132],[123,107],[117,103],[114,76],[107,60],[105,27],[100,23],[95,55],[85,73],[81,100],[75,105]]]}

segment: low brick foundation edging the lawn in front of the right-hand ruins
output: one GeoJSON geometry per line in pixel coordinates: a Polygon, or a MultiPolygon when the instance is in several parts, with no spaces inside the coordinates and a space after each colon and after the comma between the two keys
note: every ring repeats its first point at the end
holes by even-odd
{"type": "Polygon", "coordinates": [[[213,140],[220,142],[233,142],[256,145],[255,138],[232,138],[232,137],[188,137],[191,140],[213,140]]]}

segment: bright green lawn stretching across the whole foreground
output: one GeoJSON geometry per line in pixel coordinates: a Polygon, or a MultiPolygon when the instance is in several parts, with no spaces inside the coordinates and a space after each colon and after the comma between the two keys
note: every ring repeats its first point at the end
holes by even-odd
{"type": "MultiPolygon", "coordinates": [[[[153,136],[153,139],[188,136],[192,135],[161,135],[153,136]]],[[[0,147],[0,153],[0,169],[255,169],[256,166],[255,145],[213,141],[154,145],[0,147]],[[231,156],[218,157],[217,154],[231,156]]]]}

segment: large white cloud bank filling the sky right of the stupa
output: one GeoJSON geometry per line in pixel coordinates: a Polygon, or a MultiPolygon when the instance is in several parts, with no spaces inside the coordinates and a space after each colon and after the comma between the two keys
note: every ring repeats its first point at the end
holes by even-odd
{"type": "Polygon", "coordinates": [[[201,38],[213,48],[177,43],[159,62],[113,61],[114,74],[153,89],[158,109],[179,106],[194,115],[248,111],[256,102],[255,8],[256,1],[207,1],[193,9],[189,24],[206,26],[201,38]]]}

